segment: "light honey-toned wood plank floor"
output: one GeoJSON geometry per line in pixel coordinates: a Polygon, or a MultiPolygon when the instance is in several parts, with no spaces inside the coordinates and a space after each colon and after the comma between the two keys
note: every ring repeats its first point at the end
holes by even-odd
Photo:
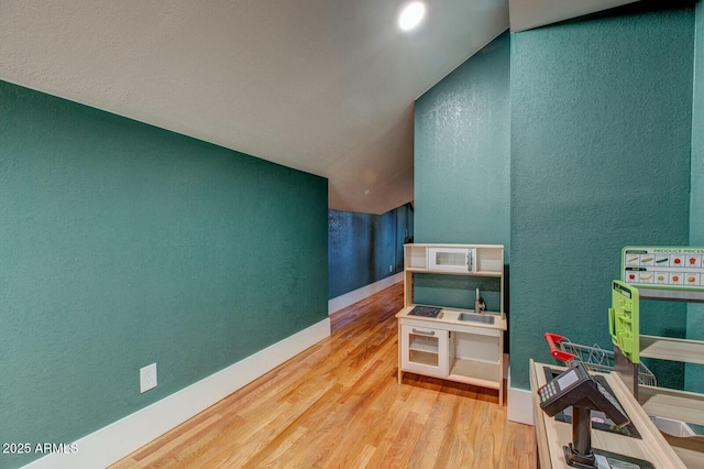
{"type": "Polygon", "coordinates": [[[332,335],[112,466],[534,468],[532,427],[496,391],[397,382],[403,284],[331,316],[332,335]]]}

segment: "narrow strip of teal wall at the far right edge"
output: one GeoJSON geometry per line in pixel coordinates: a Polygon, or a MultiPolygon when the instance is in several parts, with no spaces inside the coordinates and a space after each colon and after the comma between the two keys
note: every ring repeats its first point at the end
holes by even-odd
{"type": "MultiPolygon", "coordinates": [[[[694,98],[692,103],[692,194],[690,246],[704,246],[704,7],[696,3],[694,42],[694,98]]],[[[688,310],[689,339],[704,340],[704,305],[688,310]]],[[[684,389],[704,393],[704,366],[685,366],[684,389]]]]}

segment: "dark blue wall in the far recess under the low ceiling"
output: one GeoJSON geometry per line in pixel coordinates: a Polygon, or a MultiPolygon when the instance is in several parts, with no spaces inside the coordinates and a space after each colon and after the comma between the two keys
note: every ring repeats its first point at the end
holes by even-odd
{"type": "Polygon", "coordinates": [[[413,236],[410,204],[382,215],[329,210],[330,299],[402,272],[404,243],[413,236]]]}

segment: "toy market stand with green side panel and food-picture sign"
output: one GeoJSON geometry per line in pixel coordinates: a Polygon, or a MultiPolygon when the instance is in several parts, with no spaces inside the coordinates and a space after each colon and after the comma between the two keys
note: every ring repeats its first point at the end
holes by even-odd
{"type": "MultiPolygon", "coordinates": [[[[627,247],[612,283],[609,332],[617,373],[648,415],[704,426],[704,394],[639,384],[640,358],[704,364],[704,341],[640,334],[640,301],[704,303],[704,249],[627,247]]],[[[704,436],[667,436],[690,468],[704,468],[704,436]]]]}

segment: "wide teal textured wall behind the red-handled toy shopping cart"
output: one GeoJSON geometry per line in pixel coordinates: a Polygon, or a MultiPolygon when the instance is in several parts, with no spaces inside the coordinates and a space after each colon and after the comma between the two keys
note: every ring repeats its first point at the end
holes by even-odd
{"type": "MultiPolygon", "coordinates": [[[[624,246],[688,242],[693,32],[685,9],[512,36],[513,386],[552,361],[544,331],[610,347],[624,246]]],[[[666,306],[645,332],[682,337],[684,306],[666,306]]]]}

